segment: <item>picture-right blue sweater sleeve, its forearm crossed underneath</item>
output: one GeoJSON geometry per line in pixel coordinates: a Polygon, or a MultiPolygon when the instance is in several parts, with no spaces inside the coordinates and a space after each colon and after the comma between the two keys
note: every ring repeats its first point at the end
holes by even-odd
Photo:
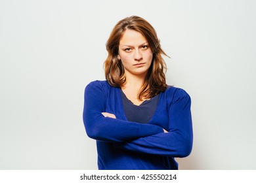
{"type": "Polygon", "coordinates": [[[115,143],[116,148],[158,154],[171,157],[186,157],[192,150],[192,117],[190,96],[179,89],[169,107],[168,133],[158,133],[125,143],[115,143]]]}

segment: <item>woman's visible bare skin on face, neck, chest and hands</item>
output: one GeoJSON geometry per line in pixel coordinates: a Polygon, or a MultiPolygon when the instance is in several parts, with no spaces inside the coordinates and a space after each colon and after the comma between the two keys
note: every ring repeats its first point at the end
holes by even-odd
{"type": "MultiPolygon", "coordinates": [[[[119,41],[119,53],[117,58],[121,60],[125,69],[126,82],[121,88],[126,97],[134,104],[140,105],[144,100],[138,99],[138,93],[146,73],[152,63],[153,54],[146,38],[139,32],[127,29],[119,41]]],[[[102,112],[104,117],[115,118],[115,114],[102,112]]],[[[163,129],[164,133],[168,133],[163,129]]]]}

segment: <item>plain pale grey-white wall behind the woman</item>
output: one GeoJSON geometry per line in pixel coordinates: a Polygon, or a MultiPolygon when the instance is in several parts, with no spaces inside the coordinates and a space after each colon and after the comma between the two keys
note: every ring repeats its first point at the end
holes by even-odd
{"type": "Polygon", "coordinates": [[[83,92],[131,15],[154,26],[167,83],[192,98],[180,169],[256,169],[255,2],[0,0],[0,169],[97,169],[83,92]]]}

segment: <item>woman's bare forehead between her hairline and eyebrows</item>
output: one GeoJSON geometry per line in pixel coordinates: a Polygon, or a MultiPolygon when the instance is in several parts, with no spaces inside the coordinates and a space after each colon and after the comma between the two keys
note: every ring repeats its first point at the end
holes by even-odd
{"type": "Polygon", "coordinates": [[[146,38],[138,31],[127,29],[119,41],[120,46],[144,44],[146,38]]]}

